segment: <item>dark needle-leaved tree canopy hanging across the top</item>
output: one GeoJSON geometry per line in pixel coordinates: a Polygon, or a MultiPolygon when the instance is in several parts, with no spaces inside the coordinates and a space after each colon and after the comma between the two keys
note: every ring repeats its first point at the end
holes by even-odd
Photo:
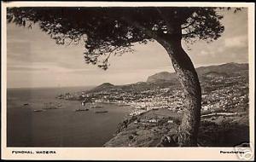
{"type": "Polygon", "coordinates": [[[158,38],[207,42],[218,39],[224,32],[220,23],[223,16],[218,10],[199,7],[24,7],[9,8],[7,20],[28,27],[38,23],[58,44],[83,42],[85,61],[106,70],[109,56],[131,51],[132,43],[148,43],[158,38]]]}

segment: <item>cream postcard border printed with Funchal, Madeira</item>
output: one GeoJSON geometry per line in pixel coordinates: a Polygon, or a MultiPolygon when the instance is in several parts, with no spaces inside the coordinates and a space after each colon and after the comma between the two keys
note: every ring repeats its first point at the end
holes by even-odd
{"type": "MultiPolygon", "coordinates": [[[[245,7],[248,9],[248,43],[249,43],[249,119],[250,142],[254,147],[254,3],[120,3],[120,2],[2,2],[2,159],[86,159],[86,160],[247,160],[236,153],[235,148],[7,148],[6,146],[6,8],[25,6],[207,6],[207,7],[245,7]],[[32,151],[32,153],[14,153],[15,151],[32,151]],[[55,153],[36,153],[37,151],[55,151],[55,153]]],[[[241,148],[242,149],[242,148],[241,148]]],[[[254,151],[254,148],[253,148],[254,151]]],[[[254,153],[253,157],[254,159],[254,153]]]]}

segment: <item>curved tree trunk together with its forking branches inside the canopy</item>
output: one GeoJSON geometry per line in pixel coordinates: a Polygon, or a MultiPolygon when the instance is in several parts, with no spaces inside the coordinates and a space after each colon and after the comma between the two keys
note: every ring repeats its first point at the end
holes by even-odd
{"type": "Polygon", "coordinates": [[[162,17],[166,22],[172,22],[166,24],[167,33],[152,32],[135,20],[129,20],[128,22],[148,34],[148,37],[154,38],[166,49],[170,56],[185,95],[183,119],[177,130],[178,145],[181,147],[197,146],[197,134],[201,119],[200,82],[189,55],[186,54],[181,45],[182,22],[177,19],[178,16],[166,18],[165,15],[162,15],[162,17]]]}

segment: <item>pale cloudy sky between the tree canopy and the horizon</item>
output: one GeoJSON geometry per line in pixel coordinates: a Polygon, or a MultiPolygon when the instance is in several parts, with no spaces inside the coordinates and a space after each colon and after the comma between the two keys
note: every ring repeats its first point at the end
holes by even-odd
{"type": "MultiPolygon", "coordinates": [[[[247,9],[224,11],[225,30],[212,43],[196,42],[183,48],[195,67],[248,62],[247,9]]],[[[7,25],[7,87],[67,87],[102,83],[132,84],[156,72],[174,72],[159,43],[136,44],[134,53],[110,57],[107,71],[84,62],[83,45],[57,45],[37,25],[32,30],[7,25]]]]}

